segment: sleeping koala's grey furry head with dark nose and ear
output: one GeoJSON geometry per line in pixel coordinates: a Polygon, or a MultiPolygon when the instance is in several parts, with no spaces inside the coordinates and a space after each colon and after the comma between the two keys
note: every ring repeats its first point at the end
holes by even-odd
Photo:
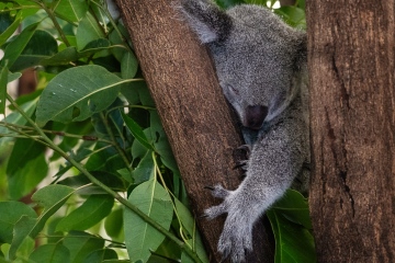
{"type": "Polygon", "coordinates": [[[244,126],[259,129],[281,114],[297,87],[305,33],[269,10],[241,4],[227,12],[208,0],[182,0],[189,25],[211,50],[219,84],[244,126]]]}

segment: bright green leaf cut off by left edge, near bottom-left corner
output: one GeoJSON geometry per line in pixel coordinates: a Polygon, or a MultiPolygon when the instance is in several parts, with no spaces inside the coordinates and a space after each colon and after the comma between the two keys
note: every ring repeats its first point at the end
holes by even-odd
{"type": "Polygon", "coordinates": [[[36,218],[32,207],[16,201],[0,202],[0,243],[11,243],[13,228],[22,216],[36,218]]]}

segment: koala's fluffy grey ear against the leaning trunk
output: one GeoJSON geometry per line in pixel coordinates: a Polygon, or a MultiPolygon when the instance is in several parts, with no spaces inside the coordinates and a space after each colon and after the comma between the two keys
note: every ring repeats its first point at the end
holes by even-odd
{"type": "Polygon", "coordinates": [[[180,10],[203,44],[225,41],[230,33],[230,16],[211,0],[181,0],[180,10]]]}

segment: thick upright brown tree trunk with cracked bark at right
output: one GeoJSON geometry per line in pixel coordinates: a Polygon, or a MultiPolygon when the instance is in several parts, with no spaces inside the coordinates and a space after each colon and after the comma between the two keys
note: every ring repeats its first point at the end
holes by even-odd
{"type": "Polygon", "coordinates": [[[307,1],[319,262],[395,262],[394,1],[307,1]]]}

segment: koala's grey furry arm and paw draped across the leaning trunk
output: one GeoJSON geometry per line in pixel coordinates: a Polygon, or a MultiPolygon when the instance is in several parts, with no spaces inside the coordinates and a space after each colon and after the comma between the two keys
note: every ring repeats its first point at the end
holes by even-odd
{"type": "Polygon", "coordinates": [[[239,187],[227,191],[221,185],[212,188],[224,202],[205,210],[208,218],[227,214],[218,250],[233,262],[245,260],[245,250],[252,250],[252,226],[257,219],[290,187],[301,171],[304,136],[301,125],[276,124],[253,145],[247,175],[239,187]]]}

